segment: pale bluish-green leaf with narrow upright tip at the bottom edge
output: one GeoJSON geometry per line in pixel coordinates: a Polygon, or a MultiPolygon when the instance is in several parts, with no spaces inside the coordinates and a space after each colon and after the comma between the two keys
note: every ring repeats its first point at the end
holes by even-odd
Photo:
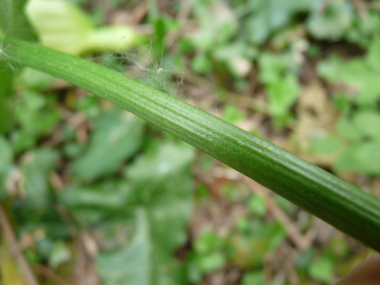
{"type": "MultiPolygon", "coordinates": [[[[101,252],[96,257],[102,284],[184,284],[177,262],[156,243],[155,230],[146,210],[137,209],[136,224],[137,232],[129,244],[101,252]]],[[[175,232],[167,231],[168,237],[170,233],[175,232]]]]}

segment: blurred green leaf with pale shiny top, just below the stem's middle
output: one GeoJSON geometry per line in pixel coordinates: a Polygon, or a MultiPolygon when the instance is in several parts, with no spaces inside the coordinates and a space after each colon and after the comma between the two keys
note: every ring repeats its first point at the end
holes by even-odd
{"type": "Polygon", "coordinates": [[[127,168],[133,201],[147,209],[155,243],[168,252],[186,240],[193,156],[194,149],[182,142],[154,143],[127,168]]]}

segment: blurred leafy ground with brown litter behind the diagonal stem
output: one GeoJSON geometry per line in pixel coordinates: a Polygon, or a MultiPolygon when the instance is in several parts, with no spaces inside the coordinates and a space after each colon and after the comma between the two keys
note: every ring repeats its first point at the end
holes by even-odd
{"type": "MultiPolygon", "coordinates": [[[[42,44],[380,197],[378,1],[18,2],[42,44]]],[[[1,16],[4,33],[35,38],[1,16]]],[[[370,253],[111,103],[1,68],[1,284],[30,284],[12,234],[41,284],[332,284],[370,253]]]]}

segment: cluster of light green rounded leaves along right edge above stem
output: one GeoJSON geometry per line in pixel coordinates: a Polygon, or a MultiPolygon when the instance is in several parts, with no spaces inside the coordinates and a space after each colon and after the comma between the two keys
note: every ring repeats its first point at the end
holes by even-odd
{"type": "Polygon", "coordinates": [[[336,96],[336,106],[343,112],[336,133],[315,138],[312,144],[316,152],[338,153],[337,172],[380,174],[380,109],[374,104],[380,96],[379,54],[380,41],[375,38],[365,57],[343,61],[334,56],[319,65],[322,77],[348,87],[336,96]]]}

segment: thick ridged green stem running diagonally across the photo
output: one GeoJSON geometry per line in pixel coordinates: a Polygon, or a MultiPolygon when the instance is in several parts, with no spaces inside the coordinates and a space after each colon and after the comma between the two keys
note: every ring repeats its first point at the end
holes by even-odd
{"type": "Polygon", "coordinates": [[[116,71],[33,43],[5,39],[5,44],[9,45],[6,52],[11,59],[3,56],[3,60],[13,59],[115,103],[380,250],[380,200],[376,197],[267,141],[116,71]]]}

